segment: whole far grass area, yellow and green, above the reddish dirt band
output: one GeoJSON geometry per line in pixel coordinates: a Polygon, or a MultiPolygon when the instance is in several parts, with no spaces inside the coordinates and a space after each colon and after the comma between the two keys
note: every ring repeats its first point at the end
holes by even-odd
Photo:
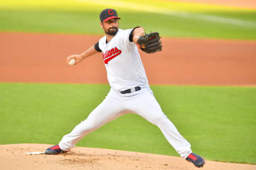
{"type": "Polygon", "coordinates": [[[113,7],[122,18],[119,26],[122,29],[140,25],[147,32],[158,31],[162,36],[169,37],[256,39],[256,10],[168,1],[150,2],[119,1],[120,4],[109,6],[105,1],[102,4],[71,0],[1,1],[0,31],[103,35],[99,13],[106,7],[113,7]],[[207,20],[208,15],[214,19],[217,17],[217,20],[207,20]],[[219,22],[222,19],[233,19],[235,24],[219,22]],[[239,25],[237,22],[242,23],[239,25]],[[249,25],[246,22],[250,22],[249,25]]]}

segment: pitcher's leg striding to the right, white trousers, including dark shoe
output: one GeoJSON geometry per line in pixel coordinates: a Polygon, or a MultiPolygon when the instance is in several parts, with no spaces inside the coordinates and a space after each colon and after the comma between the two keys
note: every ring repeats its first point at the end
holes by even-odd
{"type": "Polygon", "coordinates": [[[163,132],[167,141],[178,152],[178,154],[180,154],[181,157],[194,163],[197,167],[202,167],[204,165],[203,158],[199,156],[193,157],[193,155],[191,155],[193,153],[190,149],[190,143],[182,137],[174,124],[162,112],[161,107],[157,103],[151,91],[143,92],[142,94],[131,97],[131,99],[127,101],[126,106],[127,109],[130,109],[149,122],[158,126],[158,128],[163,132]],[[188,159],[189,157],[191,157],[192,160],[188,159]],[[195,162],[196,160],[197,162],[199,161],[199,163],[195,162]]]}

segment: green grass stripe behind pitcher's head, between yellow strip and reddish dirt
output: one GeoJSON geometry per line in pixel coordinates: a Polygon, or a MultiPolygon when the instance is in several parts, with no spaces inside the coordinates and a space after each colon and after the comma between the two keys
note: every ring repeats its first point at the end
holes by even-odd
{"type": "MultiPolygon", "coordinates": [[[[14,32],[84,33],[102,35],[98,12],[0,11],[0,30],[14,32]]],[[[141,26],[146,32],[158,31],[161,36],[225,39],[256,39],[252,28],[153,13],[119,12],[119,27],[141,26]],[[154,20],[154,22],[151,22],[154,20]]]]}

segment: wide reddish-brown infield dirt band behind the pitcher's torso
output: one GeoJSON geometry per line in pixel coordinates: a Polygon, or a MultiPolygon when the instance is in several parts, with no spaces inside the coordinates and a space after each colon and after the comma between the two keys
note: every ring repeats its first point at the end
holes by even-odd
{"type": "MultiPolygon", "coordinates": [[[[66,63],[100,38],[0,33],[0,82],[108,83],[101,53],[66,63]]],[[[140,51],[149,84],[256,85],[256,41],[164,37],[162,44],[159,53],[140,51]]]]}

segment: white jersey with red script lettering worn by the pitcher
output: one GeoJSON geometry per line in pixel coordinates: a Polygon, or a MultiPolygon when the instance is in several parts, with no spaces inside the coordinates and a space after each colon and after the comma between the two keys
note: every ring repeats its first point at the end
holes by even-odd
{"type": "Polygon", "coordinates": [[[132,30],[118,29],[116,35],[109,42],[107,42],[106,36],[99,40],[108,82],[110,87],[116,91],[137,86],[149,87],[137,45],[133,41],[129,41],[132,30]]]}

